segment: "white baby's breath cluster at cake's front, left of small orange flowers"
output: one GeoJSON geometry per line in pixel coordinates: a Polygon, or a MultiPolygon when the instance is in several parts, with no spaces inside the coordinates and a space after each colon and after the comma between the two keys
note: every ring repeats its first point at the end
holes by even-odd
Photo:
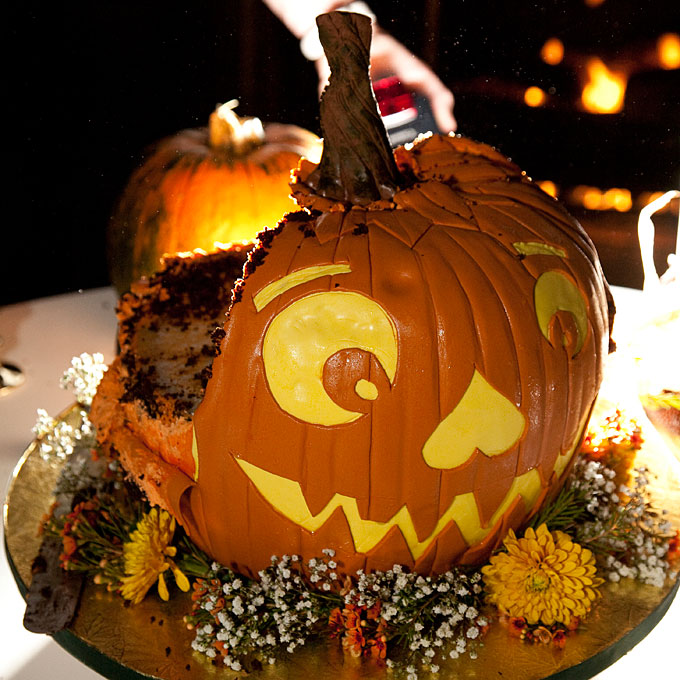
{"type": "MultiPolygon", "coordinates": [[[[331,564],[309,562],[310,580],[322,590],[330,590],[330,581],[337,578],[331,564]]],[[[326,610],[304,583],[301,566],[297,555],[272,557],[271,566],[254,581],[213,563],[207,582],[219,586],[208,589],[199,603],[211,622],[196,627],[192,647],[214,658],[215,643],[223,643],[224,663],[239,671],[246,658],[274,663],[282,650],[290,653],[304,645],[326,610]]]]}

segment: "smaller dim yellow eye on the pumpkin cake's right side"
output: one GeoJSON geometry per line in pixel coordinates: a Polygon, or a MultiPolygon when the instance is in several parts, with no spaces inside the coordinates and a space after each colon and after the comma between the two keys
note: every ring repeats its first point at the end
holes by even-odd
{"type": "MultiPolygon", "coordinates": [[[[588,333],[588,310],[583,294],[570,279],[561,272],[545,272],[539,276],[534,287],[534,305],[541,333],[548,342],[550,325],[557,312],[569,312],[576,324],[576,342],[573,343],[572,357],[576,356],[588,333]]],[[[567,338],[564,338],[565,345],[567,338]]]]}

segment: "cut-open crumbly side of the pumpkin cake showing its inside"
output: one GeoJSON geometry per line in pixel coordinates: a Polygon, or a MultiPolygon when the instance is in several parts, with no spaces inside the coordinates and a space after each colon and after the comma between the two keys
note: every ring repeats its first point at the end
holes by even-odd
{"type": "MultiPolygon", "coordinates": [[[[177,470],[195,473],[192,417],[201,402],[234,282],[252,245],[164,260],[119,303],[119,355],[105,374],[91,419],[104,450],[120,458],[152,503],[177,470]]],[[[170,509],[170,508],[167,508],[170,509]]]]}

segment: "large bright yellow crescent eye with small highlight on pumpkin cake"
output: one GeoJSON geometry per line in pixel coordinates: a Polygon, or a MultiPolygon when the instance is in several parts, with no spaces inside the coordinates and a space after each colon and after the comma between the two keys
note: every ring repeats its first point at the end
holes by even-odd
{"type": "MultiPolygon", "coordinates": [[[[375,301],[352,291],[313,293],[283,309],[269,324],[262,347],[267,383],[276,403],[317,425],[351,423],[363,415],[338,406],[323,386],[326,361],[343,349],[373,354],[390,383],[397,370],[397,331],[375,301]]],[[[357,394],[374,399],[372,383],[357,394]]]]}

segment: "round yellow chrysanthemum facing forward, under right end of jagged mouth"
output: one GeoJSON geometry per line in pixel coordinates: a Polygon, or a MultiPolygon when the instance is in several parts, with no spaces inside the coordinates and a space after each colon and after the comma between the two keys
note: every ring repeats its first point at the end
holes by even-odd
{"type": "Polygon", "coordinates": [[[600,596],[595,557],[562,531],[541,524],[524,538],[511,530],[503,541],[507,552],[494,555],[482,568],[488,600],[527,623],[568,626],[585,616],[600,596]]]}

